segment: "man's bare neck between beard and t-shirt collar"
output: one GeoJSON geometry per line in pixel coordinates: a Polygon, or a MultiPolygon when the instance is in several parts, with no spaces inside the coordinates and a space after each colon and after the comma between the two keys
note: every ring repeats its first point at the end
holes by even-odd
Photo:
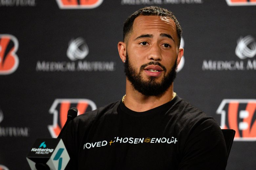
{"type": "Polygon", "coordinates": [[[142,112],[161,106],[172,100],[174,95],[173,84],[160,96],[145,96],[135,90],[126,80],[126,96],[124,104],[127,108],[142,112]]]}

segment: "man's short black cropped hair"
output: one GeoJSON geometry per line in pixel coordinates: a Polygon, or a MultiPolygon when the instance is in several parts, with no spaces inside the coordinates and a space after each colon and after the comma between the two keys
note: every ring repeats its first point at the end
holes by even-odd
{"type": "Polygon", "coordinates": [[[178,22],[178,20],[176,19],[176,17],[174,16],[174,14],[171,11],[168,11],[167,9],[164,8],[160,8],[160,7],[156,7],[156,6],[151,6],[151,7],[145,7],[142,9],[139,9],[138,11],[134,12],[131,16],[129,16],[123,26],[123,41],[125,41],[125,38],[127,37],[127,35],[132,31],[133,28],[133,22],[135,20],[135,18],[137,18],[139,15],[155,15],[155,16],[163,16],[163,17],[169,17],[171,18],[176,25],[176,32],[178,35],[178,46],[180,46],[181,43],[181,34],[182,34],[182,29],[181,29],[181,25],[178,22]]]}

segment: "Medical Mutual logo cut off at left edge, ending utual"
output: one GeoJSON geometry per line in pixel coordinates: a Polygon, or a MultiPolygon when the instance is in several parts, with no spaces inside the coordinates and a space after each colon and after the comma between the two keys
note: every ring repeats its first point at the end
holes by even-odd
{"type": "MultiPolygon", "coordinates": [[[[0,109],[0,123],[4,120],[3,111],[0,109]]],[[[0,125],[0,137],[28,137],[28,127],[2,127],[0,125]]]]}

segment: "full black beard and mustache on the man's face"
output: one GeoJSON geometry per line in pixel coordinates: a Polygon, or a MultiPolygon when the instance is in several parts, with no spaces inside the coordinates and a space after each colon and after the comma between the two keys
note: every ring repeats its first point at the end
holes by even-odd
{"type": "Polygon", "coordinates": [[[149,62],[140,66],[139,73],[129,62],[128,53],[126,55],[126,62],[124,63],[124,72],[127,79],[131,82],[133,88],[139,93],[146,96],[160,96],[162,95],[173,83],[177,75],[177,59],[172,69],[166,74],[166,68],[160,62],[149,62]],[[164,76],[160,82],[157,82],[157,77],[149,77],[149,80],[143,80],[141,74],[144,68],[148,65],[159,65],[164,71],[164,76]]]}

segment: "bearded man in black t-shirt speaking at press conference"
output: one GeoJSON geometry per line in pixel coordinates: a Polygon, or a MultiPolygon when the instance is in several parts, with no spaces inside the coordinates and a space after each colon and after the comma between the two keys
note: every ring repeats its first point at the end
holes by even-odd
{"type": "Polygon", "coordinates": [[[181,26],[166,9],[145,7],[118,42],[126,73],[120,101],[77,116],[62,135],[67,169],[225,169],[216,121],[173,92],[181,26]]]}

